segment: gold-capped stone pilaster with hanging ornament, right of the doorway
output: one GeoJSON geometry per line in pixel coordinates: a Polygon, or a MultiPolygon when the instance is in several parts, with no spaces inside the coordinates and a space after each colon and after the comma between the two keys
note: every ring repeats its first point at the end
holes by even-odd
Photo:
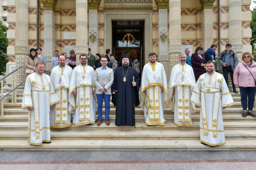
{"type": "MultiPolygon", "coordinates": [[[[168,65],[168,0],[156,0],[158,7],[158,46],[159,56],[158,60],[163,65],[168,65]]],[[[165,68],[166,76],[168,75],[168,67],[165,68]]]]}

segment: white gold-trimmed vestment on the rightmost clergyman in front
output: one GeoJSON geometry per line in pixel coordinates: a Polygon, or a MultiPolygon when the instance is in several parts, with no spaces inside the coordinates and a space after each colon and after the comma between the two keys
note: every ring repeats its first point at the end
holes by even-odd
{"type": "Polygon", "coordinates": [[[225,144],[222,108],[234,104],[224,77],[218,72],[201,75],[191,96],[201,106],[200,140],[211,146],[225,144]]]}

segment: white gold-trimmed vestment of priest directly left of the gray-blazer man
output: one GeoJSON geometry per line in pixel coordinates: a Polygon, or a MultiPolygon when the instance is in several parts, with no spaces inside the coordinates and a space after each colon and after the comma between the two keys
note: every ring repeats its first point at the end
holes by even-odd
{"type": "Polygon", "coordinates": [[[95,123],[95,99],[92,90],[94,85],[94,69],[86,65],[78,65],[73,69],[70,80],[69,112],[75,111],[73,125],[87,125],[95,123]],[[76,97],[72,93],[76,90],[76,97]]]}

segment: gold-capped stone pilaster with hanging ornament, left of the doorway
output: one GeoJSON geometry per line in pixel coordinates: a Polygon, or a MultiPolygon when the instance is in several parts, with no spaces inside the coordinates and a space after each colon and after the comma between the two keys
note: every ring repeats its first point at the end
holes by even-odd
{"type": "Polygon", "coordinates": [[[91,48],[91,53],[95,55],[98,53],[98,7],[100,5],[100,0],[89,0],[89,47],[91,48]],[[90,34],[94,34],[90,37],[90,34]]]}

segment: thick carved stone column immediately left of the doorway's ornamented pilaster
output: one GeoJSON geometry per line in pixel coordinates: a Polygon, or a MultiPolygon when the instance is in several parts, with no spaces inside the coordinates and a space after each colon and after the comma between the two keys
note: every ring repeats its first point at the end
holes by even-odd
{"type": "Polygon", "coordinates": [[[80,64],[80,54],[88,54],[87,10],[87,0],[76,0],[76,65],[80,64]]]}

